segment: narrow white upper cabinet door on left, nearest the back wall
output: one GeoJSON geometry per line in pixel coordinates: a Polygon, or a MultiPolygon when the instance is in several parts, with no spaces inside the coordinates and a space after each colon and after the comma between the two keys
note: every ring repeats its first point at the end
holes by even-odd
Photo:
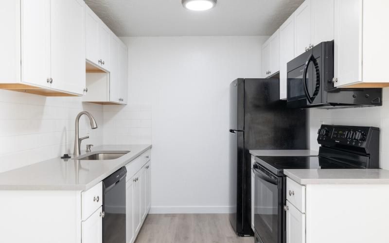
{"type": "Polygon", "coordinates": [[[128,75],[127,75],[127,47],[119,44],[119,82],[120,97],[123,99],[122,104],[127,104],[128,99],[128,75]]]}

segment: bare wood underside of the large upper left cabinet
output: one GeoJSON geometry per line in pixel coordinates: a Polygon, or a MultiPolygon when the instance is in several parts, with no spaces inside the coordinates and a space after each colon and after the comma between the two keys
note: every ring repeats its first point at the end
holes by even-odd
{"type": "Polygon", "coordinates": [[[12,90],[28,94],[37,94],[42,96],[77,96],[52,89],[34,87],[25,84],[0,84],[0,89],[12,90]]]}

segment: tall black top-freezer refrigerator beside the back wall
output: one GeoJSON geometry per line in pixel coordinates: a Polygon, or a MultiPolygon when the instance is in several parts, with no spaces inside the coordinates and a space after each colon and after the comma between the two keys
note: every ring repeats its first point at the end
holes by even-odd
{"type": "Polygon", "coordinates": [[[249,150],[307,149],[308,125],[308,111],[280,100],[278,79],[230,84],[230,223],[239,236],[253,235],[249,150]]]}

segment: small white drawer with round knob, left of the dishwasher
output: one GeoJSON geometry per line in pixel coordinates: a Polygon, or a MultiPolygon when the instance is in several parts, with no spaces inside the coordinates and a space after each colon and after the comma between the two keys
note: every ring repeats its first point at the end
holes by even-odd
{"type": "Polygon", "coordinates": [[[94,211],[103,205],[103,183],[100,182],[88,191],[81,192],[82,220],[86,220],[94,211]]]}

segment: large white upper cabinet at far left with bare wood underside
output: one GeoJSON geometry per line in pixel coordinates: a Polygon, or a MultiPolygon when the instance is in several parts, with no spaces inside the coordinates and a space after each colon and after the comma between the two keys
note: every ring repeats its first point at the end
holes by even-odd
{"type": "Polygon", "coordinates": [[[2,45],[2,57],[11,61],[4,65],[10,68],[7,72],[16,75],[0,74],[0,88],[46,96],[82,95],[84,8],[82,0],[4,0],[0,20],[13,30],[4,29],[8,34],[4,43],[10,46],[2,45]]]}

